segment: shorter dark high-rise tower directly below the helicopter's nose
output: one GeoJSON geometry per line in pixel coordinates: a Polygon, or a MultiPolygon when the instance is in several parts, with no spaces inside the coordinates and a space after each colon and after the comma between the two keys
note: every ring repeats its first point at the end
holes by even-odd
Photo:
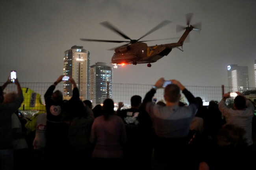
{"type": "Polygon", "coordinates": [[[90,67],[90,100],[93,106],[112,99],[113,68],[104,62],[96,62],[90,67]]]}

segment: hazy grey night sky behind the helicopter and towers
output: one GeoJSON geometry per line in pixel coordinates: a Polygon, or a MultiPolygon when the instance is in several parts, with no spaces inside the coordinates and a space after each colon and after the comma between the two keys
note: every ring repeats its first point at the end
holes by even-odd
{"type": "MultiPolygon", "coordinates": [[[[255,87],[255,0],[0,0],[0,82],[11,70],[20,82],[54,82],[63,74],[64,51],[83,46],[91,64],[106,62],[125,43],[85,42],[80,38],[125,40],[101,26],[108,21],[132,39],[138,39],[163,20],[172,21],[141,40],[180,37],[176,26],[202,22],[191,31],[183,50],[174,48],[152,67],[119,66],[114,83],[154,84],[160,77],[185,86],[228,86],[227,66],[249,67],[250,87],[255,87]]],[[[148,42],[148,46],[178,40],[148,42]]]]}

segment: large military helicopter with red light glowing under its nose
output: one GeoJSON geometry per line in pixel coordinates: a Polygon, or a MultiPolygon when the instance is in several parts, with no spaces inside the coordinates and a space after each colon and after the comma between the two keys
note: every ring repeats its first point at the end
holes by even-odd
{"type": "MultiPolygon", "coordinates": [[[[193,16],[193,13],[186,14],[186,21],[187,26],[180,26],[177,25],[176,32],[185,30],[183,35],[180,37],[178,42],[175,43],[169,43],[169,44],[161,44],[161,45],[155,45],[155,46],[147,46],[145,42],[148,41],[156,41],[156,40],[145,40],[145,41],[139,41],[141,38],[144,38],[145,36],[149,35],[150,33],[160,29],[161,27],[171,23],[171,21],[164,20],[160,24],[158,24],[156,27],[148,31],[145,35],[140,37],[137,40],[133,40],[124,33],[122,33],[119,29],[114,27],[109,22],[101,22],[100,24],[102,26],[107,27],[108,29],[114,31],[115,33],[121,35],[123,38],[128,39],[130,41],[119,41],[119,40],[97,40],[97,39],[87,39],[87,38],[80,38],[82,41],[97,41],[97,42],[128,42],[127,44],[124,44],[122,46],[119,46],[117,48],[113,48],[115,50],[115,53],[113,54],[113,57],[111,58],[111,64],[115,65],[114,68],[117,68],[117,65],[124,66],[126,64],[145,64],[148,63],[147,66],[151,67],[150,63],[154,63],[160,58],[167,56],[173,48],[178,48],[181,51],[183,51],[182,46],[189,35],[189,32],[192,30],[201,30],[201,23],[195,25],[190,25],[191,18],[193,16]],[[180,48],[181,47],[181,48],[180,48]]],[[[158,40],[167,40],[167,39],[177,39],[177,38],[164,38],[164,39],[158,39],[158,40]]],[[[113,50],[110,49],[110,50],[113,50]]]]}

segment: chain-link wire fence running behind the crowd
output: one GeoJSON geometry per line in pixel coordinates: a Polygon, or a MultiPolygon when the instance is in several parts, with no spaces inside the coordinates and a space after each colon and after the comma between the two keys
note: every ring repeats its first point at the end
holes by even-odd
{"type": "MultiPolygon", "coordinates": [[[[1,83],[3,84],[3,83],[1,83]]],[[[45,104],[44,94],[52,83],[35,83],[35,82],[25,82],[20,83],[22,88],[28,88],[32,92],[38,93],[41,97],[42,104],[45,104]]],[[[203,101],[220,101],[222,98],[222,93],[228,92],[229,87],[224,86],[185,86],[195,97],[201,97],[203,101]]],[[[130,98],[133,95],[140,95],[144,98],[145,94],[152,88],[152,85],[148,84],[120,84],[113,83],[113,101],[115,103],[124,102],[125,104],[130,104],[130,98]]],[[[252,90],[253,88],[250,88],[252,90]]],[[[63,91],[63,83],[59,83],[56,86],[56,90],[63,91]]],[[[11,91],[17,91],[15,84],[9,84],[4,93],[9,93],[11,91]]],[[[80,94],[83,99],[86,99],[86,94],[80,94]]],[[[158,89],[155,98],[157,101],[163,100],[163,89],[158,89]]],[[[26,101],[26,100],[24,100],[26,101]]],[[[184,101],[186,99],[184,98],[184,101]]]]}

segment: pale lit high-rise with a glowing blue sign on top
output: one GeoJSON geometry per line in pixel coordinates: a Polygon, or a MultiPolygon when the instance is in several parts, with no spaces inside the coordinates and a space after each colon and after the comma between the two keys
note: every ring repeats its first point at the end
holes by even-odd
{"type": "Polygon", "coordinates": [[[230,88],[230,92],[249,90],[249,73],[247,66],[237,66],[237,64],[228,66],[228,87],[230,88]]]}

